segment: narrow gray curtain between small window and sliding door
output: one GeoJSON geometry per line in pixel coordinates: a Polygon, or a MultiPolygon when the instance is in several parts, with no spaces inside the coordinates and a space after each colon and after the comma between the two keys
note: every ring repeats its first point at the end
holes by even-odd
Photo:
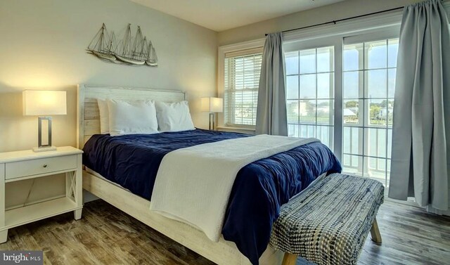
{"type": "Polygon", "coordinates": [[[288,135],[285,61],[281,32],[266,37],[259,78],[256,134],[288,135]]]}

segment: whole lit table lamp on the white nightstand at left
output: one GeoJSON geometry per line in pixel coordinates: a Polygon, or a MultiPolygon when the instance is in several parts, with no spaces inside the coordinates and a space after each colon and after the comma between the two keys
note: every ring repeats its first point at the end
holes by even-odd
{"type": "Polygon", "coordinates": [[[65,91],[25,90],[23,91],[23,115],[40,116],[38,119],[37,147],[34,152],[56,150],[51,145],[51,117],[49,115],[66,115],[67,100],[65,91]],[[47,121],[49,136],[47,143],[42,143],[42,123],[47,121]]]}

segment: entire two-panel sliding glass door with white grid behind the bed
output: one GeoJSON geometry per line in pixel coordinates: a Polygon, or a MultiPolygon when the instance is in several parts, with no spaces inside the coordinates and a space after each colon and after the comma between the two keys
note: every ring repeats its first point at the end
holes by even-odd
{"type": "Polygon", "coordinates": [[[285,44],[289,136],[316,137],[343,171],[390,177],[398,31],[285,44]]]}

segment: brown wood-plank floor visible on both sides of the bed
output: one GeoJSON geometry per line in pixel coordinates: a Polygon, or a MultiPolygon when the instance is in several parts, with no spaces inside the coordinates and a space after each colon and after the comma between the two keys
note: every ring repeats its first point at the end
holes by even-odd
{"type": "MultiPolygon", "coordinates": [[[[359,264],[450,264],[450,217],[387,201],[383,245],[366,240],[359,264]]],[[[62,214],[9,232],[0,250],[44,250],[44,264],[212,264],[101,200],[83,218],[62,214]]]]}

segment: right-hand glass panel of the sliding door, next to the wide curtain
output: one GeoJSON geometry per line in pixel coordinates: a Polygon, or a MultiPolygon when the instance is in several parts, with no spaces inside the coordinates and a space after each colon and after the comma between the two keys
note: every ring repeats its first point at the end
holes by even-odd
{"type": "Polygon", "coordinates": [[[389,183],[399,39],[344,45],[345,172],[389,183]]]}

